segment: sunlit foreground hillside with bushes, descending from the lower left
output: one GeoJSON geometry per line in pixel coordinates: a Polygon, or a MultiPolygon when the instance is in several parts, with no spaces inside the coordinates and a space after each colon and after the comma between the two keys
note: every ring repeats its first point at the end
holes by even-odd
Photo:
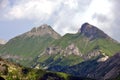
{"type": "Polygon", "coordinates": [[[0,80],[93,80],[60,72],[26,68],[0,58],[0,80]]]}

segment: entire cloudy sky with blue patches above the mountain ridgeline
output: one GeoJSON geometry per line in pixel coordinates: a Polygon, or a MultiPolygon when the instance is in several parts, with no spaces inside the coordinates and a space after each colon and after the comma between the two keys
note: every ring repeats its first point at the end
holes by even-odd
{"type": "Polygon", "coordinates": [[[51,25],[59,34],[76,33],[88,22],[120,42],[120,0],[0,0],[0,38],[9,40],[51,25]]]}

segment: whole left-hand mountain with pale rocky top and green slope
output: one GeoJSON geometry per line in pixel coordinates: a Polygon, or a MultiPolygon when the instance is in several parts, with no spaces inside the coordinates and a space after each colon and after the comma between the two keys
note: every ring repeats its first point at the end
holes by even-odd
{"type": "Polygon", "coordinates": [[[0,55],[28,66],[33,58],[43,52],[44,48],[60,37],[51,26],[43,24],[9,40],[0,48],[0,55]]]}

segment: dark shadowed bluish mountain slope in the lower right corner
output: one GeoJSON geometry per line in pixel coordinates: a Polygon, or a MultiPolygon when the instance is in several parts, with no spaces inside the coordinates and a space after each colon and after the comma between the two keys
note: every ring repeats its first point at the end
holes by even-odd
{"type": "Polygon", "coordinates": [[[62,71],[96,80],[120,80],[120,53],[116,53],[104,62],[99,62],[99,59],[85,61],[64,68],[62,71]]]}

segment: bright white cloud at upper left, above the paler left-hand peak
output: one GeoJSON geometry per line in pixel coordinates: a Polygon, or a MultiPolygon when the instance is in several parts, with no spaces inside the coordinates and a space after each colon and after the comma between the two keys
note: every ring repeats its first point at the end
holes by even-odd
{"type": "Polygon", "coordinates": [[[10,19],[41,19],[47,20],[59,6],[55,0],[22,0],[14,4],[5,14],[10,19]]]}

